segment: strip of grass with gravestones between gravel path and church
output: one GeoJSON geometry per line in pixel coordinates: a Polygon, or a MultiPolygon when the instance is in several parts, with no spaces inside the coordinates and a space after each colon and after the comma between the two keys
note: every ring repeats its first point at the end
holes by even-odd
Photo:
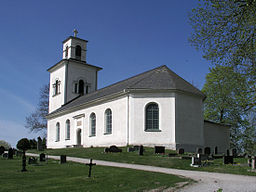
{"type": "MultiPolygon", "coordinates": [[[[145,147],[143,156],[139,156],[138,152],[127,152],[126,147],[121,148],[122,153],[104,153],[104,148],[64,148],[64,149],[47,149],[44,153],[48,155],[67,155],[70,157],[92,158],[97,160],[113,161],[120,163],[151,165],[157,167],[194,170],[194,171],[208,171],[218,173],[230,173],[239,175],[256,176],[256,172],[248,171],[251,168],[247,166],[246,158],[234,158],[234,165],[223,165],[222,159],[215,159],[209,161],[208,166],[194,168],[191,167],[190,159],[179,159],[168,157],[168,153],[175,153],[172,150],[165,150],[166,155],[154,154],[154,148],[145,147]]],[[[31,153],[39,153],[36,150],[29,150],[31,153]]],[[[41,153],[41,152],[40,152],[41,153]]],[[[187,154],[182,155],[187,156],[187,154]]]]}

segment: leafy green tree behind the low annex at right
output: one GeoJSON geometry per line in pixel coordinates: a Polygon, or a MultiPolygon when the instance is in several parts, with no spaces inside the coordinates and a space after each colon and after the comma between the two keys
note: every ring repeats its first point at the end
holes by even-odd
{"type": "Polygon", "coordinates": [[[253,127],[249,118],[251,111],[248,106],[252,96],[247,92],[248,87],[246,77],[234,71],[233,67],[217,65],[210,69],[202,89],[207,96],[204,118],[231,125],[231,147],[235,148],[241,145],[248,148],[246,143],[249,140],[243,135],[249,136],[249,127],[253,127]]]}

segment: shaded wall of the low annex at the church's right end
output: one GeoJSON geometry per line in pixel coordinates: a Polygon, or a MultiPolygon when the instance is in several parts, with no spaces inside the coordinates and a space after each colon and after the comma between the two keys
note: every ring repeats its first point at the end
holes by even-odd
{"type": "Polygon", "coordinates": [[[205,147],[210,147],[212,152],[217,147],[218,153],[226,153],[230,145],[229,135],[229,126],[204,122],[205,147]]]}

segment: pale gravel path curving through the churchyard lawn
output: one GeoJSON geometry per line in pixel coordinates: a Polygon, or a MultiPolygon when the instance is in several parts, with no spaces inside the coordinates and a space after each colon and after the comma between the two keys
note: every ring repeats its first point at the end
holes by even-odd
{"type": "MultiPolygon", "coordinates": [[[[38,154],[27,153],[29,156],[39,156],[38,154]]],[[[48,158],[59,160],[59,156],[49,155],[48,158]]],[[[67,161],[78,163],[88,163],[89,159],[67,157],[67,161]]],[[[202,171],[188,171],[180,169],[170,169],[162,167],[154,167],[148,165],[137,165],[127,163],[117,163],[110,161],[93,160],[93,163],[103,166],[122,167],[150,172],[159,172],[166,174],[179,175],[188,177],[198,181],[193,185],[186,186],[178,190],[179,192],[214,192],[222,189],[223,192],[256,192],[256,176],[243,176],[224,173],[202,172],[202,171]]]]}

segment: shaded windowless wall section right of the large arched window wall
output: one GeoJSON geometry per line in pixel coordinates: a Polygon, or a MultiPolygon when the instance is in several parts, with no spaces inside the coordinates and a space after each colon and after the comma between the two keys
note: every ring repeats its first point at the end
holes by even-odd
{"type": "Polygon", "coordinates": [[[195,152],[204,145],[202,97],[175,93],[176,148],[195,152]]]}

